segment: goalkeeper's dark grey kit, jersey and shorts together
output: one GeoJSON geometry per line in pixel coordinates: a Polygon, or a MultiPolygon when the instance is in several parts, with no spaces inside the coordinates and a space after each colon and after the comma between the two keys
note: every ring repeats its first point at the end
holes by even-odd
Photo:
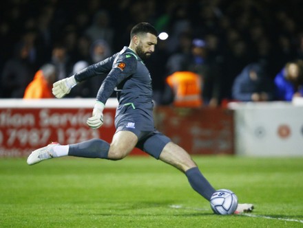
{"type": "Polygon", "coordinates": [[[105,102],[116,89],[116,131],[129,130],[138,137],[137,148],[158,159],[169,137],[154,128],[151,77],[143,61],[128,47],[75,74],[78,82],[107,74],[97,100],[105,102]]]}

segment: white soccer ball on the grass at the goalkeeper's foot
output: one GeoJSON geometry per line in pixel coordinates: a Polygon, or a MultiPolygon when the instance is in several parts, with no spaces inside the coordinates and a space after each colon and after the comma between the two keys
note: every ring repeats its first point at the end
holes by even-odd
{"type": "Polygon", "coordinates": [[[215,214],[233,214],[238,207],[238,197],[231,190],[217,190],[211,196],[210,203],[215,214]]]}

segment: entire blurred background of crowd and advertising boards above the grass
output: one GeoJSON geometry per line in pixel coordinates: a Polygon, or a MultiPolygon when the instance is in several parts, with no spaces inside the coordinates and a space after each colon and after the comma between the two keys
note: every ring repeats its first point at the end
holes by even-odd
{"type": "Polygon", "coordinates": [[[194,154],[302,156],[302,8],[301,0],[1,1],[0,157],[50,141],[110,141],[116,99],[101,130],[85,124],[104,76],[78,84],[68,102],[23,98],[54,98],[55,80],[128,46],[143,21],[169,35],[145,60],[161,132],[194,154]]]}

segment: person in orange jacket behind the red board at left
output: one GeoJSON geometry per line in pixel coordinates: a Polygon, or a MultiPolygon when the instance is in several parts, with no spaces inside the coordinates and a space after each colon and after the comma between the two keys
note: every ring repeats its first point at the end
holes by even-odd
{"type": "Polygon", "coordinates": [[[25,89],[23,99],[54,98],[52,84],[56,80],[56,67],[51,64],[43,65],[36,71],[34,80],[25,89]]]}

